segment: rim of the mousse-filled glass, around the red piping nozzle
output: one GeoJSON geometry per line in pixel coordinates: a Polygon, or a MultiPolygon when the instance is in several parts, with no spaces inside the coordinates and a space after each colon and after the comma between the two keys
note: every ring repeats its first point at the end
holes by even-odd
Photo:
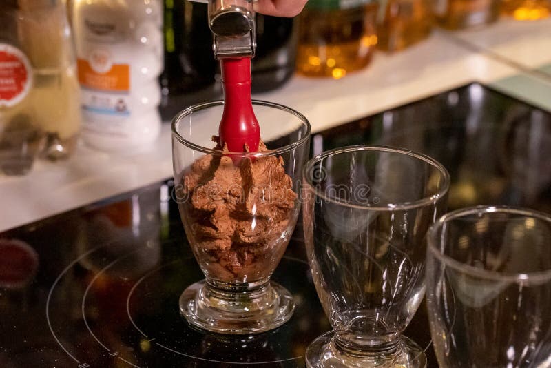
{"type": "Polygon", "coordinates": [[[262,152],[224,152],[222,150],[216,150],[214,148],[202,147],[201,145],[198,145],[196,143],[193,143],[193,142],[185,139],[180,133],[178,133],[178,130],[176,130],[176,125],[178,124],[180,119],[182,119],[184,116],[187,116],[187,115],[189,115],[193,112],[206,110],[206,109],[212,108],[214,106],[224,105],[223,100],[216,100],[216,101],[210,101],[210,102],[205,102],[205,103],[197,103],[195,105],[191,105],[188,108],[185,108],[184,110],[178,112],[178,114],[176,114],[176,116],[174,116],[174,118],[172,118],[172,123],[171,123],[172,136],[178,142],[182,143],[186,147],[191,148],[192,150],[196,150],[196,151],[199,151],[199,152],[202,152],[202,153],[205,153],[205,154],[211,154],[213,156],[229,156],[229,155],[231,155],[231,156],[237,156],[237,157],[242,157],[242,158],[247,158],[247,157],[249,157],[249,158],[258,158],[258,157],[267,157],[267,156],[275,156],[275,155],[279,155],[279,154],[284,154],[286,152],[294,150],[296,147],[300,147],[301,145],[304,145],[304,143],[306,143],[310,139],[310,134],[311,134],[310,122],[308,121],[308,119],[306,119],[306,116],[304,116],[300,112],[298,112],[298,111],[296,111],[292,108],[289,108],[285,105],[280,105],[279,103],[273,103],[273,102],[269,102],[269,101],[255,100],[255,99],[251,100],[251,102],[253,103],[253,105],[265,106],[265,107],[268,107],[268,108],[275,108],[275,109],[282,110],[284,112],[288,112],[289,114],[292,114],[292,115],[296,116],[306,126],[306,134],[304,134],[304,136],[296,142],[293,142],[289,145],[284,145],[283,147],[275,148],[273,150],[266,150],[266,151],[262,151],[262,152]]]}

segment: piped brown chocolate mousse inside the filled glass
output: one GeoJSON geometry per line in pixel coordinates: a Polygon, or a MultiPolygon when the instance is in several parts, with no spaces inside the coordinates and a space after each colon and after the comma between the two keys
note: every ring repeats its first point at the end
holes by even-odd
{"type": "MultiPolygon", "coordinates": [[[[258,151],[267,151],[262,141],[258,151]]],[[[204,271],[228,283],[269,276],[296,218],[291,212],[297,194],[282,157],[236,161],[207,154],[194,161],[183,186],[189,198],[183,206],[186,231],[196,257],[205,260],[199,262],[204,271]]]]}

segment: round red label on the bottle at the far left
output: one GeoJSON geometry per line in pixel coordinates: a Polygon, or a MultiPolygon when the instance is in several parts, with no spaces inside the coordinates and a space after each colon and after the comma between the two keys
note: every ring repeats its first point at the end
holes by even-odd
{"type": "Polygon", "coordinates": [[[21,102],[32,86],[29,59],[12,45],[0,43],[0,108],[21,102]]]}

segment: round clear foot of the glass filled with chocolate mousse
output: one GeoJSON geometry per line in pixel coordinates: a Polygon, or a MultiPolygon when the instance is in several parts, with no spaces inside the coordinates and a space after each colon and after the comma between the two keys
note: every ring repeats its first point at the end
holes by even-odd
{"type": "Polygon", "coordinates": [[[219,334],[259,334],[286,323],[293,296],[271,281],[220,285],[202,280],[180,296],[180,312],[191,325],[219,334]]]}

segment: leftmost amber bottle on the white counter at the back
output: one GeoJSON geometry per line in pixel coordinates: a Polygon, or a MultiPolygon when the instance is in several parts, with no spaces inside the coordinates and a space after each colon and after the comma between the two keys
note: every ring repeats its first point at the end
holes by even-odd
{"type": "Polygon", "coordinates": [[[300,19],[297,71],[340,79],[371,61],[377,44],[377,5],[325,10],[306,8],[300,19]]]}

